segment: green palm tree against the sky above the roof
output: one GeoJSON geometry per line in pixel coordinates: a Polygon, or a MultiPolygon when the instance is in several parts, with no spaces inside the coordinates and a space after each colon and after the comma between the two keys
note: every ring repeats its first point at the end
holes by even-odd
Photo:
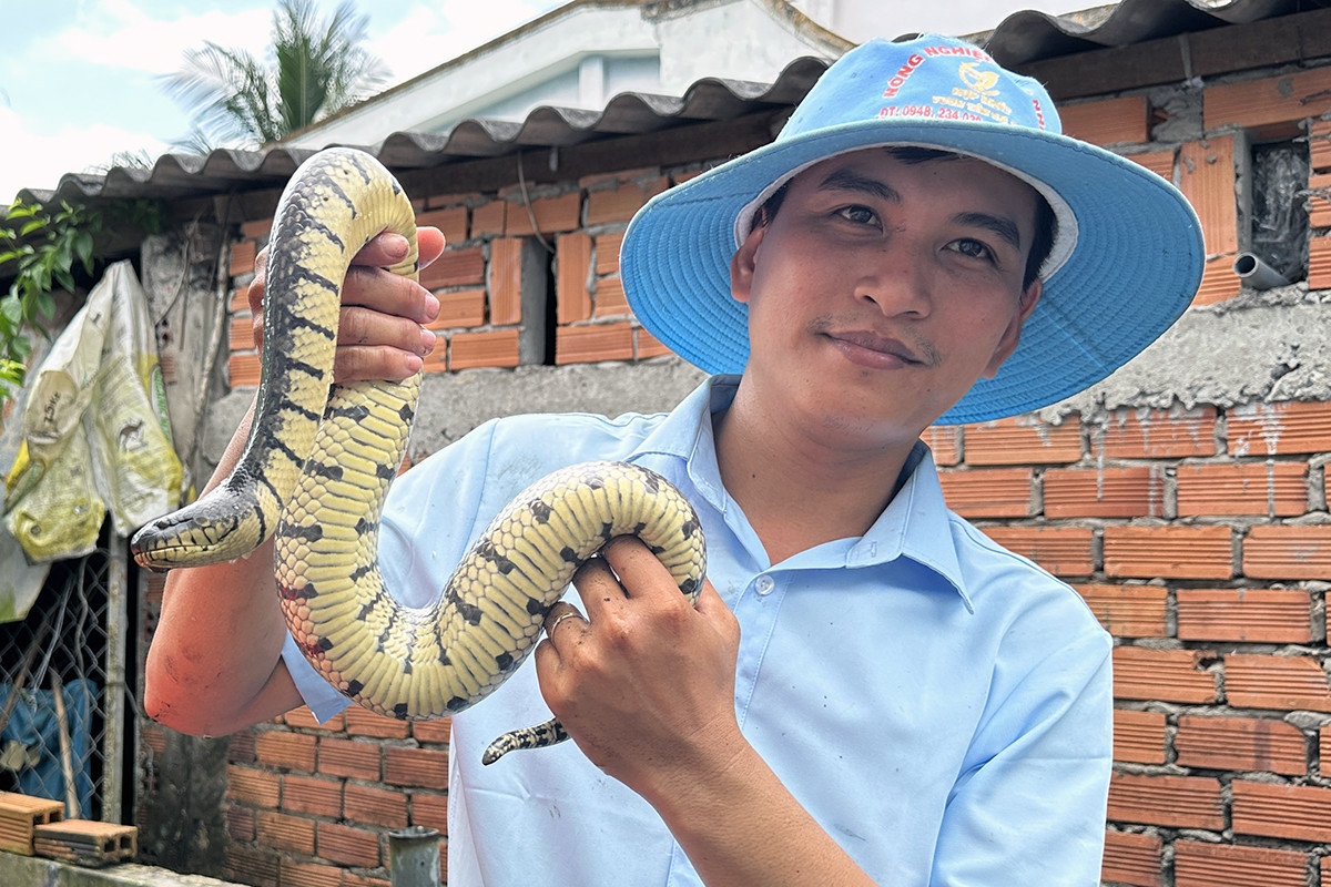
{"type": "Polygon", "coordinates": [[[205,41],[185,53],[166,92],[193,109],[194,132],[177,148],[206,153],[214,145],[258,148],[371,94],[387,66],[361,44],[367,16],[343,0],[319,20],[313,0],[280,0],[265,63],[244,49],[205,41]]]}

